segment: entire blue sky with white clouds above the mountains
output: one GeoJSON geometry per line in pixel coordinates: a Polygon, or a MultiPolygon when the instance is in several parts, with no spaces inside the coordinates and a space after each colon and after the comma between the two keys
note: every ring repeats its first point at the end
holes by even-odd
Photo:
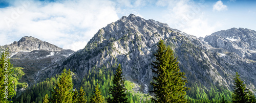
{"type": "Polygon", "coordinates": [[[99,29],[131,13],[197,37],[256,30],[255,0],[0,0],[0,45],[33,36],[78,50],[99,29]]]}

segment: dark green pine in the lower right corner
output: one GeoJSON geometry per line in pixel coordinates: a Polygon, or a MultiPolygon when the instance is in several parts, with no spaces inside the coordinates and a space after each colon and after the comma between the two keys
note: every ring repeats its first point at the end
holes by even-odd
{"type": "Polygon", "coordinates": [[[236,73],[236,77],[233,79],[233,94],[232,94],[232,102],[249,102],[249,90],[246,88],[244,82],[239,78],[238,72],[236,73]]]}

